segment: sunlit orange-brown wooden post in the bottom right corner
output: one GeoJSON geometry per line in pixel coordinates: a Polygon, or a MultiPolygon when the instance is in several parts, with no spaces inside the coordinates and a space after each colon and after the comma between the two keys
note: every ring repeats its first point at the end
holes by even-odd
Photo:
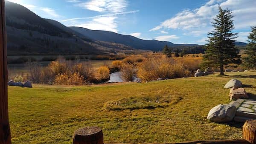
{"type": "Polygon", "coordinates": [[[247,120],[243,126],[243,138],[250,144],[256,144],[256,120],[247,120]]]}

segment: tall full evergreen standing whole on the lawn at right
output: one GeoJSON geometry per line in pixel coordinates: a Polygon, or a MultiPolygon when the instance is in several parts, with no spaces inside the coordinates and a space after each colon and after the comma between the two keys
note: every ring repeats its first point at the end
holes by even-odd
{"type": "Polygon", "coordinates": [[[220,74],[224,75],[224,66],[241,63],[239,50],[235,47],[237,33],[233,33],[234,24],[231,10],[219,7],[218,15],[214,18],[214,30],[208,33],[204,66],[220,67],[220,74]]]}

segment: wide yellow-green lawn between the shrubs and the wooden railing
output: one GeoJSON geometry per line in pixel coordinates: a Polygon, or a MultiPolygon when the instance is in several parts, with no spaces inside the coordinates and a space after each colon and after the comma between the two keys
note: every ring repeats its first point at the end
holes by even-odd
{"type": "Polygon", "coordinates": [[[241,138],[242,124],[215,124],[206,117],[212,107],[229,103],[229,89],[224,85],[233,77],[245,84],[251,96],[256,95],[256,72],[226,74],[230,76],[103,86],[9,86],[12,142],[72,143],[73,132],[85,126],[101,127],[104,141],[116,143],[241,138]],[[145,101],[145,109],[106,109],[106,104],[111,107],[113,101],[125,98],[130,102],[131,97],[169,101],[155,109],[144,107],[145,101]]]}

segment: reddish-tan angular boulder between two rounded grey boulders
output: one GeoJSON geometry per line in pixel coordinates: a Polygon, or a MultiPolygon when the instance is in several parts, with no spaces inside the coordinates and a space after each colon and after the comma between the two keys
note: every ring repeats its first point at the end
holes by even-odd
{"type": "Polygon", "coordinates": [[[249,98],[244,88],[236,88],[235,86],[232,89],[230,89],[229,96],[230,96],[230,100],[237,100],[239,98],[241,99],[249,98]]]}

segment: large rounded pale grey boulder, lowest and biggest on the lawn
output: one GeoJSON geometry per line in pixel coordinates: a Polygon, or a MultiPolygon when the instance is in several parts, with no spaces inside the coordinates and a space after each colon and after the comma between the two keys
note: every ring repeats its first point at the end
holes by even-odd
{"type": "Polygon", "coordinates": [[[230,104],[219,104],[213,107],[208,115],[207,119],[217,123],[225,123],[233,121],[236,115],[236,107],[230,104]]]}

